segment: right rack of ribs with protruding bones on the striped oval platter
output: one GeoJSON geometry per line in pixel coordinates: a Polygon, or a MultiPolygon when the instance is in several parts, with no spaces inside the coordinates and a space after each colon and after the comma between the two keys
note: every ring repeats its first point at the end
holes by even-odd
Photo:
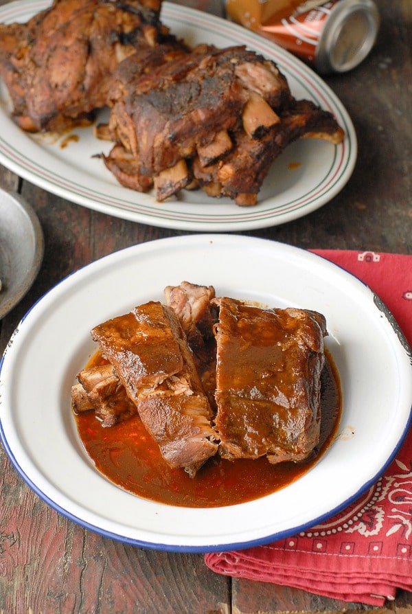
{"type": "Polygon", "coordinates": [[[113,76],[103,156],[126,187],[159,201],[187,187],[255,205],[273,161],[292,141],[334,144],[343,130],[328,111],[293,98],[275,62],[244,46],[126,58],[113,76]],[[135,63],[148,69],[133,70],[135,63]]]}

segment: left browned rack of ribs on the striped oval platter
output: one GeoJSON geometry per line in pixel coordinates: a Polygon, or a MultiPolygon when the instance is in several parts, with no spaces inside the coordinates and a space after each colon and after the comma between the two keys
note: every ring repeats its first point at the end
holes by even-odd
{"type": "Polygon", "coordinates": [[[106,105],[119,62],[168,30],[161,0],[54,0],[25,24],[0,24],[0,75],[17,124],[62,132],[106,105]]]}

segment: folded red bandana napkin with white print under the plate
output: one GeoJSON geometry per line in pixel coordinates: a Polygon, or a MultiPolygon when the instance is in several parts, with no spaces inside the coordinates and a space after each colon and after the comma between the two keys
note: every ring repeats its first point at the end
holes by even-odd
{"type": "MultiPolygon", "coordinates": [[[[314,250],[373,290],[412,345],[412,255],[314,250]]],[[[412,429],[398,457],[355,503],[321,525],[265,546],[205,555],[218,573],[382,606],[412,591],[412,429]]]]}

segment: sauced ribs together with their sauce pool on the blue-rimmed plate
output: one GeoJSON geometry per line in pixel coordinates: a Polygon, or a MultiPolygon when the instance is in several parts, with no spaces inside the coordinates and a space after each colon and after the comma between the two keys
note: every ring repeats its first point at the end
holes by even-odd
{"type": "Polygon", "coordinates": [[[165,302],[91,331],[99,350],[72,407],[96,468],[139,497],[187,507],[251,501],[306,473],[341,415],[323,316],[187,282],[165,288],[165,302]]]}

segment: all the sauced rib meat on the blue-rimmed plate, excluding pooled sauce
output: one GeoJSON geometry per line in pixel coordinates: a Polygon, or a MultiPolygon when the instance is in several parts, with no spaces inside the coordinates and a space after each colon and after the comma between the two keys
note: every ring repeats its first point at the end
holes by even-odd
{"type": "Polygon", "coordinates": [[[83,369],[76,413],[103,426],[138,412],[166,462],[192,477],[207,459],[300,462],[319,443],[325,317],[260,308],[182,282],[91,331],[107,364],[83,369]]]}

